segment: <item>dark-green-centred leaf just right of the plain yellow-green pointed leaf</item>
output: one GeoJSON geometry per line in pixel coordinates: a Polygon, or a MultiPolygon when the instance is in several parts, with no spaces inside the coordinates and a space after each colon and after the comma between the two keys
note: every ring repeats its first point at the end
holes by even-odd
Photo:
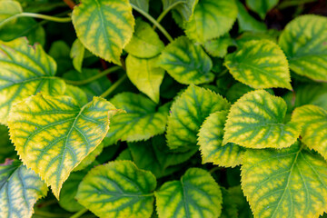
{"type": "Polygon", "coordinates": [[[158,65],[181,84],[203,84],[213,81],[212,60],[200,45],[194,45],[186,36],[180,36],[167,45],[158,65]]]}

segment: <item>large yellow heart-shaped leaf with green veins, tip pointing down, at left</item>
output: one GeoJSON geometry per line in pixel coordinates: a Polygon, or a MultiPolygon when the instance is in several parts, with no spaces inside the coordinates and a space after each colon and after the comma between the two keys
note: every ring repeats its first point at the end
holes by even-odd
{"type": "Polygon", "coordinates": [[[99,97],[80,108],[68,96],[36,94],[13,106],[9,133],[26,166],[59,198],[69,173],[101,143],[116,112],[99,97]]]}

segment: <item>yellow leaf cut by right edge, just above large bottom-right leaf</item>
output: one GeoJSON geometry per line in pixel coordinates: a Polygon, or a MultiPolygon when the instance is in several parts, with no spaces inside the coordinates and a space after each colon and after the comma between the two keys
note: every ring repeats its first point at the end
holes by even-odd
{"type": "Polygon", "coordinates": [[[304,105],[294,110],[292,120],[303,124],[301,141],[327,160],[327,111],[304,105]]]}

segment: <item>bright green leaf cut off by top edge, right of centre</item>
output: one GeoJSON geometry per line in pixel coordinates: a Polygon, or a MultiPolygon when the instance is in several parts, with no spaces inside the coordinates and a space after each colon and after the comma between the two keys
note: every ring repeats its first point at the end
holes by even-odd
{"type": "Polygon", "coordinates": [[[186,23],[185,33],[190,39],[204,43],[227,34],[236,17],[237,5],[234,0],[201,0],[186,23]]]}

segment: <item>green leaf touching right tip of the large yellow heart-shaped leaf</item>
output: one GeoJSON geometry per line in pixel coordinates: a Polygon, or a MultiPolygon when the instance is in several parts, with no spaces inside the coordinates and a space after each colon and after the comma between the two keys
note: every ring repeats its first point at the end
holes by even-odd
{"type": "Polygon", "coordinates": [[[118,140],[147,140],[164,133],[170,104],[163,104],[156,109],[157,105],[153,101],[142,94],[133,93],[116,94],[110,102],[127,114],[117,114],[111,119],[111,128],[106,135],[108,145],[118,140]]]}

